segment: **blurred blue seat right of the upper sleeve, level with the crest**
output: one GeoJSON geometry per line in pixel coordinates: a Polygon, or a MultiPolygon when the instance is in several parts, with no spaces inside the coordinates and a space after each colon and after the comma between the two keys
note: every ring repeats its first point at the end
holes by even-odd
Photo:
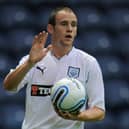
{"type": "Polygon", "coordinates": [[[104,79],[121,79],[124,75],[123,62],[116,56],[96,56],[102,68],[104,79]]]}

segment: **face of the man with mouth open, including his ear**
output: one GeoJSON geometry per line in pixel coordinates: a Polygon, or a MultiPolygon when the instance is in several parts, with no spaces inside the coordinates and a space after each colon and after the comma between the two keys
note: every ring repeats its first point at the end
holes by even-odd
{"type": "Polygon", "coordinates": [[[77,34],[77,18],[73,12],[59,11],[56,25],[52,27],[52,42],[63,46],[72,46],[77,34]]]}

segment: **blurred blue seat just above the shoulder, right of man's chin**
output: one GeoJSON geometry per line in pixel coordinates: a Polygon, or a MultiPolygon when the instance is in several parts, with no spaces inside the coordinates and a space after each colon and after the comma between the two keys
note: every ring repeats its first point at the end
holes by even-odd
{"type": "Polygon", "coordinates": [[[76,41],[75,45],[88,53],[93,55],[109,55],[113,52],[112,40],[106,32],[85,32],[78,38],[80,41],[76,41]]]}

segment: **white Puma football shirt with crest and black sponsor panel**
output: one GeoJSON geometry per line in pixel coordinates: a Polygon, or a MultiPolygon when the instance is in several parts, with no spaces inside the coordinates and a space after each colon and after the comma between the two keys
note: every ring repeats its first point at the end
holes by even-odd
{"type": "MultiPolygon", "coordinates": [[[[19,65],[27,58],[28,55],[23,57],[19,65]]],[[[53,109],[50,88],[64,77],[74,77],[84,84],[88,107],[97,106],[105,110],[103,78],[96,59],[75,47],[60,59],[48,52],[17,88],[18,92],[27,84],[22,129],[84,129],[84,122],[63,119],[53,109]]]]}

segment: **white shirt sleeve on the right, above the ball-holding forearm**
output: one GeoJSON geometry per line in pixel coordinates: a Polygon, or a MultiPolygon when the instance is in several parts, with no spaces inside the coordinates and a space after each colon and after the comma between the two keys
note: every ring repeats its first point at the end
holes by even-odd
{"type": "Polygon", "coordinates": [[[104,82],[100,65],[96,59],[90,62],[87,80],[88,106],[105,110],[104,82]]]}

